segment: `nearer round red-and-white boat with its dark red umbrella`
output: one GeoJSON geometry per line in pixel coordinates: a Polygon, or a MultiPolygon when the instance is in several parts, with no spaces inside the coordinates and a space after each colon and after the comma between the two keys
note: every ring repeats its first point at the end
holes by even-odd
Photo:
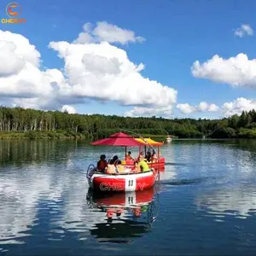
{"type": "MultiPolygon", "coordinates": [[[[156,143],[156,142],[155,142],[156,143]]],[[[111,146],[123,146],[125,147],[146,147],[149,145],[147,141],[140,141],[140,139],[135,139],[123,132],[115,133],[109,138],[98,140],[92,145],[111,145],[111,146]]],[[[161,144],[161,143],[160,143],[161,144]]],[[[159,146],[159,144],[158,144],[159,146]]],[[[139,151],[141,152],[141,150],[139,151]]],[[[158,153],[158,155],[160,155],[158,153]]],[[[87,171],[87,179],[90,188],[102,191],[137,191],[144,190],[154,186],[154,183],[158,177],[158,169],[153,168],[153,166],[164,165],[165,160],[162,159],[161,162],[148,163],[149,170],[144,172],[134,172],[134,162],[122,161],[122,165],[125,170],[122,173],[107,174],[102,172],[97,172],[94,165],[90,165],[87,171]],[[151,164],[151,165],[150,165],[151,164]]]]}

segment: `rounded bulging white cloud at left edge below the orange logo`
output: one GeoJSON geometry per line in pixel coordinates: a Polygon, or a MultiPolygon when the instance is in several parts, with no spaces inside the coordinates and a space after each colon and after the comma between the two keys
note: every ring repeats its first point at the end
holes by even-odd
{"type": "Polygon", "coordinates": [[[12,32],[0,31],[0,96],[28,98],[48,96],[58,70],[43,72],[40,54],[29,41],[12,32]]]}

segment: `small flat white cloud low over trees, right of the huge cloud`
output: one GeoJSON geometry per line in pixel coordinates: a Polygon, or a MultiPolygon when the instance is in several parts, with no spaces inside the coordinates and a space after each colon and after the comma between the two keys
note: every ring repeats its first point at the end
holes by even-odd
{"type": "Polygon", "coordinates": [[[208,104],[207,102],[200,102],[198,106],[191,106],[188,103],[177,104],[177,109],[181,113],[195,113],[195,112],[217,112],[218,106],[215,104],[208,104]]]}

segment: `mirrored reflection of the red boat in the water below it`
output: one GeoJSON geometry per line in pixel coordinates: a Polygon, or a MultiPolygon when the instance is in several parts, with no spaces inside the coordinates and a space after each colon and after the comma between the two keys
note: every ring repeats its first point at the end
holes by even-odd
{"type": "Polygon", "coordinates": [[[87,202],[90,208],[105,213],[90,229],[100,242],[130,243],[131,238],[150,231],[159,212],[159,195],[154,188],[112,195],[89,189],[87,202]]]}

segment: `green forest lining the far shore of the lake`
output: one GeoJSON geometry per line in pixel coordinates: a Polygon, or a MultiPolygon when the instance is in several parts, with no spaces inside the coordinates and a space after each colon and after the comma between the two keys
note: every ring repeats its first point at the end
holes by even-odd
{"type": "Polygon", "coordinates": [[[0,139],[108,137],[120,131],[143,137],[256,138],[256,112],[243,111],[224,119],[165,119],[152,116],[78,114],[30,108],[0,108],[0,139]]]}

